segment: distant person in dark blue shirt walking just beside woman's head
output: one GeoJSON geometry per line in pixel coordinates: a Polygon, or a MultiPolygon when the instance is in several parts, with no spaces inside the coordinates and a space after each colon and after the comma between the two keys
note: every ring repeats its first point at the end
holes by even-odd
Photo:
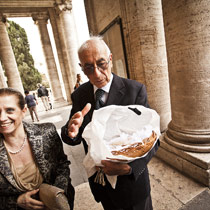
{"type": "Polygon", "coordinates": [[[36,105],[38,104],[38,101],[36,100],[34,95],[29,94],[28,90],[25,91],[25,95],[26,95],[25,101],[26,101],[27,107],[29,109],[32,121],[34,122],[34,114],[35,114],[36,119],[39,122],[39,117],[38,117],[37,110],[36,110],[36,105]]]}

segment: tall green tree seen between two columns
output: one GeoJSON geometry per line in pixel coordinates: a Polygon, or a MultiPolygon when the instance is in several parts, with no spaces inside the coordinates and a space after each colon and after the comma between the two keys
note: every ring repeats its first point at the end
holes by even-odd
{"type": "Polygon", "coordinates": [[[39,71],[34,67],[34,60],[30,54],[25,29],[13,21],[8,21],[10,26],[7,28],[12,49],[14,51],[20,77],[25,90],[37,89],[37,83],[42,82],[39,71]]]}

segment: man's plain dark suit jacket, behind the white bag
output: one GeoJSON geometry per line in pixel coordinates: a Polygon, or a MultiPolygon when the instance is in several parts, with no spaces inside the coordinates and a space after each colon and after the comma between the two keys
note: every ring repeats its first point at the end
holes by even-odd
{"type": "MultiPolygon", "coordinates": [[[[147,102],[146,88],[143,84],[118,77],[113,74],[113,81],[105,106],[108,105],[143,105],[149,107],[147,102]]],[[[83,124],[80,128],[79,134],[76,138],[71,139],[67,135],[68,122],[62,127],[61,136],[65,143],[76,145],[84,141],[81,135],[85,126],[91,121],[94,111],[94,93],[93,86],[90,82],[84,83],[72,93],[72,110],[71,116],[77,111],[81,111],[87,103],[91,103],[92,108],[90,112],[84,117],[83,124]]],[[[85,144],[87,150],[87,145],[85,144]]],[[[106,186],[102,187],[94,183],[94,177],[89,178],[92,193],[97,201],[100,201],[104,194],[108,195],[117,207],[130,207],[140,200],[145,199],[150,194],[150,182],[147,169],[147,163],[157,151],[159,141],[155,147],[149,152],[145,158],[135,160],[129,165],[132,168],[131,175],[118,176],[116,188],[113,189],[109,182],[106,181],[106,186]]]]}

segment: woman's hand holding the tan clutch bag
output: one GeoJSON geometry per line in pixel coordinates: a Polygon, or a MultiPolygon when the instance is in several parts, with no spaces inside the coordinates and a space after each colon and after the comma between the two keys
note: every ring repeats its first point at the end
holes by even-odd
{"type": "Polygon", "coordinates": [[[33,199],[31,196],[35,195],[39,189],[32,190],[20,195],[17,199],[17,205],[23,209],[33,210],[33,209],[45,209],[43,202],[33,199]]]}

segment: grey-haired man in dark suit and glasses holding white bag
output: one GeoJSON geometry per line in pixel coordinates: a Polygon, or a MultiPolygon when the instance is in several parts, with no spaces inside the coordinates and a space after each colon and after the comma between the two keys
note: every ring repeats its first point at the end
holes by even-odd
{"type": "MultiPolygon", "coordinates": [[[[85,126],[91,121],[94,109],[108,105],[138,104],[149,107],[146,88],[143,84],[118,77],[111,73],[112,54],[100,37],[92,37],[78,51],[80,66],[89,81],[76,89],[72,97],[72,110],[69,121],[62,127],[61,136],[70,145],[84,144],[82,138],[85,126]],[[95,93],[102,89],[102,98],[95,104],[95,93]]],[[[150,181],[147,163],[153,157],[159,141],[144,158],[131,163],[116,163],[102,160],[103,172],[118,175],[116,188],[113,189],[105,176],[106,185],[94,182],[96,174],[89,178],[91,191],[97,202],[105,210],[152,210],[150,181]]]]}

